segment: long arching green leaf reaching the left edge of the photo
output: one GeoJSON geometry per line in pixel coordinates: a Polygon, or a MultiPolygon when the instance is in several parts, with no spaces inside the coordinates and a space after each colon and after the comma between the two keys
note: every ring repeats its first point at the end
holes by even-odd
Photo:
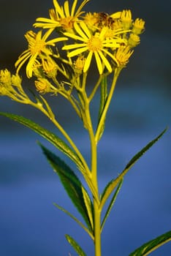
{"type": "Polygon", "coordinates": [[[58,148],[61,152],[66,154],[67,157],[72,159],[73,162],[77,165],[80,170],[84,170],[83,164],[80,158],[75,154],[75,152],[70,148],[63,140],[58,138],[53,132],[48,131],[47,129],[39,126],[39,124],[34,123],[34,121],[29,120],[28,118],[24,118],[23,116],[18,116],[10,113],[0,113],[1,116],[7,116],[14,121],[18,121],[20,124],[25,125],[26,127],[33,129],[34,132],[37,132],[46,140],[50,141],[56,148],[58,148]]]}

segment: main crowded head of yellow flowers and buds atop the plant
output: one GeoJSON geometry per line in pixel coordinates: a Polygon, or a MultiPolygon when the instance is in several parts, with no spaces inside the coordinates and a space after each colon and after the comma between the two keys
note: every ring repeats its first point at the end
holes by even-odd
{"type": "Polygon", "coordinates": [[[133,48],[140,43],[144,20],[132,20],[130,10],[111,15],[84,12],[88,1],[83,0],[77,7],[74,0],[69,8],[69,1],[60,6],[53,0],[49,18],[37,18],[33,25],[40,30],[26,32],[28,48],[19,56],[15,67],[18,74],[26,64],[26,75],[36,77],[39,93],[65,94],[71,87],[78,86],[77,78],[87,75],[93,59],[99,76],[125,67],[133,48]]]}

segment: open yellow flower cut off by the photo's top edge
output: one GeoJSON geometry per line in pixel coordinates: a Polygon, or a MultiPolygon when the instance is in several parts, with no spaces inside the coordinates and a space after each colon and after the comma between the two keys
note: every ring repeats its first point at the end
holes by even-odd
{"type": "Polygon", "coordinates": [[[70,30],[73,28],[73,24],[77,21],[77,18],[83,14],[81,10],[89,0],[84,0],[82,4],[75,11],[77,0],[72,4],[71,12],[69,12],[69,1],[64,2],[64,7],[60,7],[57,0],[53,0],[55,9],[49,10],[50,18],[37,18],[37,23],[34,23],[35,27],[43,29],[56,29],[62,27],[62,29],[70,30]]]}

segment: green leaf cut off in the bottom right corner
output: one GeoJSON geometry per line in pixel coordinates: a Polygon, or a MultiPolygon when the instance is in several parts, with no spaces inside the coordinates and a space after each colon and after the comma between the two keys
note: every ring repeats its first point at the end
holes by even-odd
{"type": "Polygon", "coordinates": [[[169,241],[171,241],[171,231],[168,231],[167,233],[164,233],[163,235],[158,236],[151,241],[148,241],[147,243],[137,248],[129,256],[147,256],[163,244],[168,243],[169,241]]]}

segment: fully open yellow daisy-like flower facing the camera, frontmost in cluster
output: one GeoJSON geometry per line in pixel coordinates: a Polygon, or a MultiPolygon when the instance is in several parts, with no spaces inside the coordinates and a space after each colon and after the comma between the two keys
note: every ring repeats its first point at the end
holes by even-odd
{"type": "Polygon", "coordinates": [[[96,65],[101,75],[104,67],[107,67],[109,72],[112,72],[112,67],[110,62],[107,60],[106,56],[109,56],[113,61],[117,63],[113,53],[110,53],[111,49],[120,47],[120,44],[124,42],[123,39],[115,38],[105,38],[107,32],[107,27],[104,27],[99,33],[91,34],[91,31],[86,26],[86,23],[80,22],[79,24],[75,23],[75,31],[77,34],[64,33],[66,37],[71,37],[76,41],[81,41],[80,43],[73,43],[72,45],[65,45],[63,50],[71,50],[68,53],[68,57],[79,56],[80,53],[86,53],[86,61],[84,64],[83,72],[87,72],[92,56],[95,56],[96,65]],[[75,49],[75,50],[73,50],[75,49]]]}

